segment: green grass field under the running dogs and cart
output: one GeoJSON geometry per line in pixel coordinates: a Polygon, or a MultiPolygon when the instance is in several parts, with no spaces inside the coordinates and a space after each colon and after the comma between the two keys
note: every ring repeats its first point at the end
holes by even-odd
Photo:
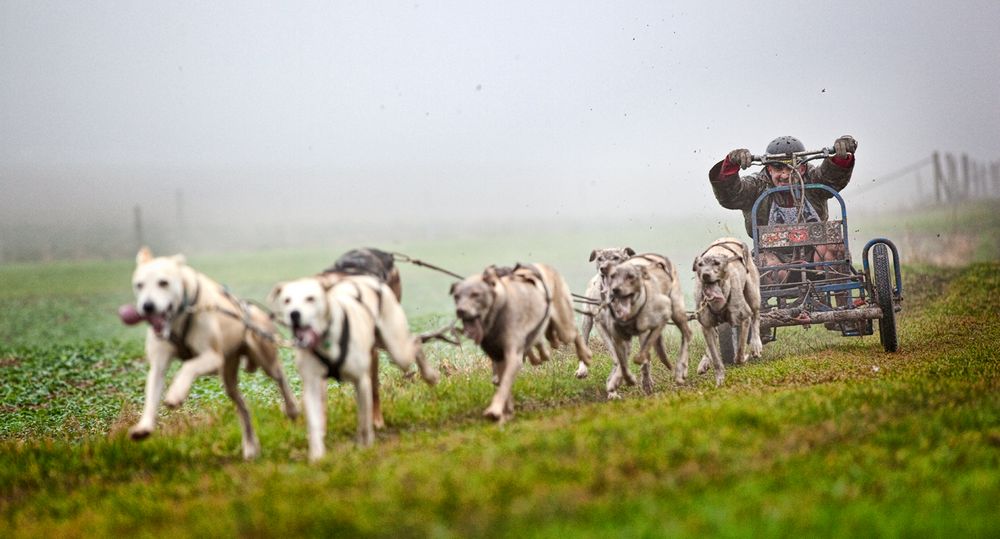
{"type": "MultiPolygon", "coordinates": [[[[685,271],[707,243],[707,232],[663,234],[630,237],[640,250],[671,245],[663,251],[685,271]]],[[[582,291],[589,249],[614,244],[581,230],[389,247],[459,273],[550,261],[582,291]]],[[[190,262],[261,299],[347,247],[190,262]]],[[[371,449],[352,442],[353,390],[334,384],[329,453],[314,465],[302,420],[281,415],[260,373],[241,381],[263,447],[255,462],[239,456],[235,414],[214,378],[162,411],[151,439],[127,438],[145,376],[143,330],[114,314],[131,299],[131,270],[131,261],[0,266],[0,536],[1000,533],[995,262],[907,265],[899,353],[884,353],[877,335],[781,329],[721,388],[693,371],[676,387],[656,364],[653,395],[626,388],[605,402],[609,359],[595,340],[586,380],[573,378],[567,350],[522,370],[517,416],[502,427],[480,417],[488,361],[469,343],[435,345],[431,360],[448,373],[437,387],[383,369],[387,428],[371,449]]],[[[404,266],[403,281],[414,329],[449,319],[449,278],[404,266]]],[[[692,363],[702,350],[699,338],[692,363]]],[[[282,355],[298,391],[291,353],[282,355]]]]}

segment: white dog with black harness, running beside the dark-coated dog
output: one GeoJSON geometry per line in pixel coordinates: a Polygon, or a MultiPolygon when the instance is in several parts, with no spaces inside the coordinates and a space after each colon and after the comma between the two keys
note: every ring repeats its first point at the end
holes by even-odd
{"type": "Polygon", "coordinates": [[[375,441],[371,363],[376,344],[404,372],[416,362],[423,379],[437,383],[438,373],[425,361],[402,306],[392,290],[374,277],[319,276],[281,283],[269,301],[295,334],[310,460],[326,451],[327,378],[354,384],[358,443],[370,446],[375,441]]]}

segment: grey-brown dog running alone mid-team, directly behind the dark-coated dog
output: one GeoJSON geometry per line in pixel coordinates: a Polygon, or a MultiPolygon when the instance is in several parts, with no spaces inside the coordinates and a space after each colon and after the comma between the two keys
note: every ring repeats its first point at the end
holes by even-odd
{"type": "Polygon", "coordinates": [[[465,335],[493,362],[497,390],[483,412],[486,417],[503,422],[513,416],[514,378],[525,357],[535,365],[549,359],[545,339],[553,347],[573,342],[580,361],[576,377],[587,376],[590,349],[573,323],[569,286],[551,267],[490,266],[453,284],[451,295],[465,335]]]}

